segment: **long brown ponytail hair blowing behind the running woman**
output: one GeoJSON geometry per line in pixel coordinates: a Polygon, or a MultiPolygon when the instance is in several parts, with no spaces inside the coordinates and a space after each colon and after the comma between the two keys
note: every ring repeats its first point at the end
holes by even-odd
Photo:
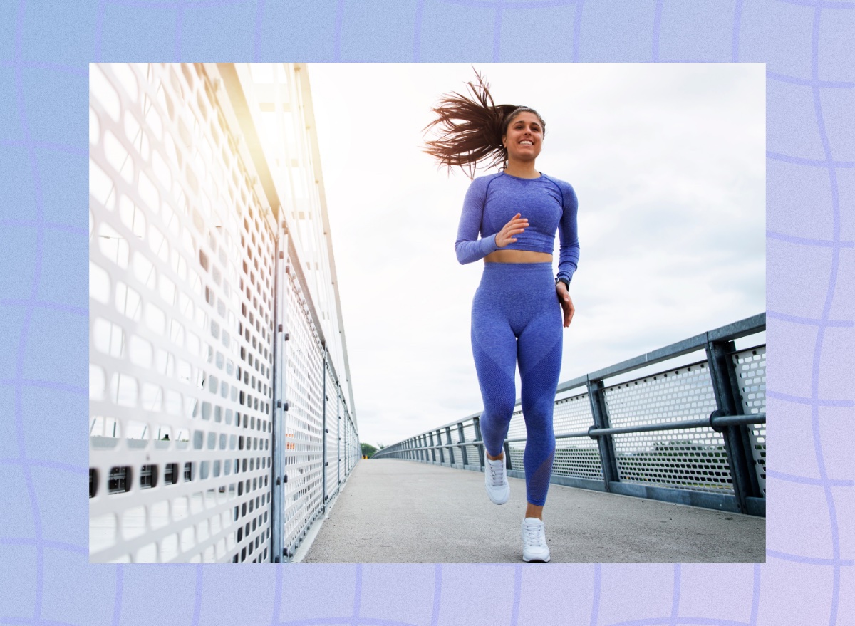
{"type": "Polygon", "coordinates": [[[490,95],[490,84],[475,71],[478,83],[466,83],[471,97],[458,92],[446,93],[433,107],[437,118],[424,132],[436,128],[437,139],[425,141],[424,151],[439,161],[440,167],[449,171],[455,166],[463,169],[469,178],[475,177],[479,163],[501,168],[508,161],[508,151],[502,137],[510,122],[523,111],[534,113],[546,133],[546,124],[540,113],[526,106],[496,104],[490,95]]]}

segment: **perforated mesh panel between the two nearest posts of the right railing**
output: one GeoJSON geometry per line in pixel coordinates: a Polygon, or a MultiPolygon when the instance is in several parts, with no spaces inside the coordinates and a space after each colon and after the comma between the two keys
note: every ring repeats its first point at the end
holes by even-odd
{"type": "MultiPolygon", "coordinates": [[[[716,410],[706,363],[606,387],[604,396],[615,428],[705,419],[716,410]]],[[[621,481],[733,493],[724,440],[712,428],[613,437],[621,481]]]]}

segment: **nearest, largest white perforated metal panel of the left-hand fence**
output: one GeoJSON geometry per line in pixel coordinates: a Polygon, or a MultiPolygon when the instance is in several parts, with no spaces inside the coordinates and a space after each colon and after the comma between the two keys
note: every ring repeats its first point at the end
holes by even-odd
{"type": "Polygon", "coordinates": [[[90,558],[268,561],[263,205],[198,66],[90,78],[90,558]]]}

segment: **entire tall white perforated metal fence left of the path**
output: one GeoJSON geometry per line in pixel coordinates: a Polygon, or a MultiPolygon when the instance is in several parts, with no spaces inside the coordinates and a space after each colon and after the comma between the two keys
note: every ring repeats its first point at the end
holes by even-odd
{"type": "MultiPolygon", "coordinates": [[[[235,112],[253,86],[232,66],[90,74],[90,558],[287,560],[358,458],[344,334],[327,328],[327,363],[317,321],[327,286],[341,323],[328,227],[309,231],[325,268],[313,288],[277,275],[300,266],[300,242],[260,182],[254,119],[235,112]],[[335,440],[323,436],[330,404],[335,440]],[[339,437],[333,489],[322,458],[339,437]]],[[[308,82],[291,89],[297,115],[310,109],[308,82]]]]}

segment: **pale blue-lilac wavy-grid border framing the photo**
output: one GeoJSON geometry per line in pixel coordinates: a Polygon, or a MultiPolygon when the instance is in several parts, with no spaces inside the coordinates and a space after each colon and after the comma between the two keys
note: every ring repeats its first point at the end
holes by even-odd
{"type": "MultiPolygon", "coordinates": [[[[64,12],[70,6],[57,3],[44,9],[22,2],[4,8],[9,25],[4,62],[9,71],[0,84],[9,94],[10,108],[2,140],[8,151],[22,157],[10,161],[6,172],[10,180],[21,184],[5,187],[2,194],[9,206],[32,204],[32,208],[21,206],[15,216],[7,215],[3,221],[10,242],[5,277],[11,280],[3,296],[9,301],[21,298],[22,293],[72,281],[85,263],[66,263],[32,281],[21,278],[15,282],[19,267],[39,263],[45,269],[50,267],[46,249],[30,245],[27,235],[31,229],[44,235],[57,230],[70,233],[61,245],[68,256],[79,245],[74,238],[81,232],[85,236],[84,221],[67,221],[50,213],[58,200],[47,193],[49,186],[62,186],[75,197],[85,197],[85,175],[74,173],[79,162],[85,169],[85,121],[80,121],[73,107],[51,108],[48,113],[40,104],[85,92],[86,63],[91,59],[155,54],[175,59],[203,54],[266,59],[281,57],[285,51],[293,57],[320,54],[333,61],[449,61],[475,55],[501,62],[513,55],[523,61],[766,63],[769,341],[791,346],[776,351],[769,381],[770,409],[783,419],[773,428],[775,449],[780,452],[775,455],[776,471],[769,473],[776,493],[769,501],[769,516],[777,520],[778,532],[769,536],[767,562],[592,564],[572,568],[570,575],[562,568],[536,577],[518,565],[502,570],[486,599],[495,601],[511,623],[561,619],[566,615],[563,611],[571,607],[591,624],[640,619],[789,624],[811,623],[817,616],[829,626],[852,622],[852,605],[840,593],[851,578],[855,528],[851,523],[852,464],[847,452],[852,420],[836,419],[852,407],[849,381],[836,375],[836,363],[846,362],[846,346],[852,337],[852,298],[840,289],[844,275],[838,264],[852,248],[848,234],[852,233],[852,213],[841,210],[838,192],[840,182],[851,177],[855,153],[846,132],[850,108],[837,106],[851,99],[855,89],[850,56],[845,51],[849,47],[845,33],[851,32],[855,15],[852,3],[637,3],[624,7],[632,9],[626,20],[634,21],[635,26],[625,29],[608,3],[531,3],[511,10],[498,2],[436,2],[416,3],[393,13],[380,5],[364,12],[354,3],[341,3],[338,11],[295,13],[276,3],[263,7],[208,3],[198,8],[189,3],[143,1],[75,5],[68,9],[74,15],[64,12]],[[145,11],[144,21],[139,19],[140,8],[145,11]],[[506,30],[512,16],[536,19],[563,37],[521,42],[506,30]],[[371,27],[366,28],[366,23],[371,27]],[[473,35],[467,40],[467,50],[455,47],[448,36],[450,23],[473,35]],[[223,37],[218,29],[223,24],[231,33],[244,32],[245,37],[223,37]],[[50,28],[56,30],[46,31],[50,28]],[[297,36],[283,39],[282,28],[297,36]],[[382,30],[384,36],[375,36],[374,29],[382,30]],[[45,32],[50,36],[45,37],[45,32]],[[315,36],[299,36],[306,32],[315,36]],[[17,107],[13,109],[14,103],[17,107]],[[53,167],[54,160],[61,160],[63,167],[53,167]],[[23,182],[31,176],[41,186],[23,182]],[[791,202],[787,187],[791,181],[812,198],[811,227],[816,230],[805,231],[805,205],[791,202]],[[793,259],[799,263],[793,264],[793,259]],[[810,281],[817,290],[794,298],[793,283],[802,280],[810,281]],[[818,386],[811,389],[811,381],[818,386]],[[805,455],[795,454],[805,438],[815,447],[805,455]],[[841,442],[840,446],[835,442],[841,442]],[[822,516],[824,523],[807,533],[799,523],[802,515],[811,522],[822,516]],[[711,568],[716,570],[714,578],[711,568]],[[562,585],[568,576],[575,583],[571,587],[575,594],[556,593],[554,602],[545,606],[540,601],[545,591],[566,590],[562,585]],[[711,581],[716,579],[727,581],[727,594],[711,594],[711,581]],[[653,584],[642,588],[637,584],[640,580],[653,584]]],[[[68,206],[68,197],[64,199],[63,206],[68,206]]],[[[64,330],[75,315],[67,311],[78,306],[74,295],[56,296],[48,304],[55,309],[45,314],[45,326],[64,330]]],[[[24,305],[28,314],[38,312],[36,302],[24,305]]],[[[84,365],[73,363],[58,374],[48,369],[56,361],[56,351],[74,352],[82,346],[85,352],[85,333],[52,334],[54,350],[41,355],[38,351],[32,356],[24,350],[15,353],[15,345],[27,345],[32,334],[44,326],[21,328],[15,324],[13,304],[3,306],[9,313],[3,328],[12,346],[3,365],[9,372],[15,367],[20,372],[26,363],[45,369],[35,381],[22,380],[26,369],[15,378],[7,374],[4,388],[17,398],[26,398],[31,387],[44,399],[56,393],[72,410],[81,404],[80,398],[85,405],[87,392],[79,388],[85,387],[85,381],[80,382],[77,371],[85,379],[84,365]]],[[[9,428],[23,432],[27,422],[45,419],[41,410],[16,402],[10,410],[9,428]]],[[[72,439],[71,427],[57,428],[72,439]]],[[[82,482],[86,474],[85,447],[82,453],[69,451],[68,456],[57,455],[42,434],[38,438],[24,434],[17,448],[4,451],[7,493],[20,503],[19,511],[40,511],[40,523],[6,526],[0,538],[7,564],[4,589],[10,592],[0,603],[6,621],[37,623],[50,616],[65,623],[120,623],[133,606],[141,619],[156,613],[187,620],[192,608],[192,621],[232,623],[232,616],[219,612],[224,593],[243,601],[240,609],[254,611],[257,621],[265,623],[282,623],[297,615],[315,621],[396,619],[408,612],[410,621],[416,616],[424,623],[444,624],[448,615],[460,620],[482,615],[483,605],[456,602],[454,594],[465,586],[465,579],[496,570],[486,564],[438,564],[434,568],[319,565],[313,571],[320,593],[289,595],[290,602],[280,599],[301,580],[285,566],[244,581],[217,576],[217,569],[205,567],[175,576],[160,570],[157,576],[134,572],[144,584],[128,584],[132,570],[122,565],[107,569],[88,564],[85,538],[69,533],[69,524],[62,524],[62,532],[51,524],[60,515],[59,507],[51,506],[61,496],[59,489],[68,490],[69,484],[82,482]],[[270,590],[262,599],[253,597],[259,583],[270,590]],[[341,599],[339,595],[323,593],[327,589],[338,593],[343,588],[354,591],[340,602],[330,601],[331,597],[341,599]],[[71,595],[63,595],[63,589],[71,595]],[[167,592],[171,593],[168,597],[167,592]],[[69,597],[75,601],[68,601],[69,597]]],[[[61,510],[72,528],[85,527],[86,510],[80,501],[69,500],[61,510]]]]}

